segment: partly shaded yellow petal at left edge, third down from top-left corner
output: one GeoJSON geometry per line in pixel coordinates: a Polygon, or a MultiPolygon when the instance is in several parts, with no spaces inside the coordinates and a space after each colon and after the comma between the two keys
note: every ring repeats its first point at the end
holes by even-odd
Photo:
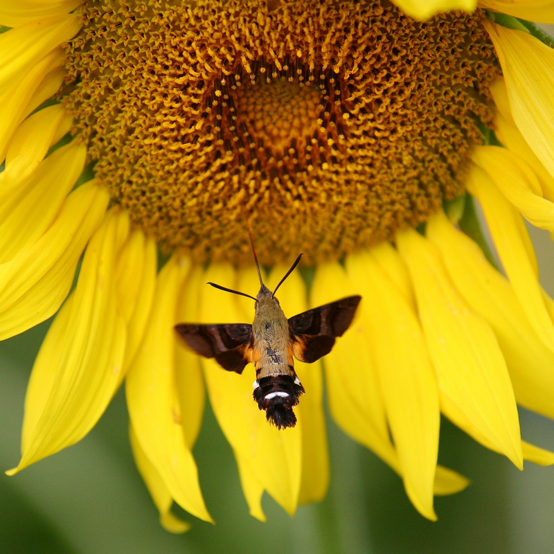
{"type": "Polygon", "coordinates": [[[7,145],[19,123],[60,87],[63,73],[59,66],[63,61],[61,49],[45,55],[29,71],[11,82],[10,89],[0,96],[0,160],[6,156],[7,145]],[[44,90],[43,85],[46,85],[44,90]]]}

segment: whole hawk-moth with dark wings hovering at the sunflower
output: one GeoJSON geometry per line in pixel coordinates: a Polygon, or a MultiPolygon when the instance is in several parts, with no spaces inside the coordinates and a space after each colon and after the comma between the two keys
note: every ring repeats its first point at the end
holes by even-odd
{"type": "Polygon", "coordinates": [[[305,392],[294,370],[294,359],[313,361],[328,354],[336,337],[348,329],[361,296],[348,296],[302,312],[289,319],[281,310],[275,293],[292,273],[302,254],[271,292],[260,278],[260,292],[254,298],[244,292],[207,283],[217,289],[252,298],[256,302],[252,325],[248,323],[216,323],[201,325],[179,323],[175,330],[197,354],[215,358],[227,371],[242,373],[249,362],[256,368],[254,400],[265,411],[269,423],[278,429],[294,427],[293,408],[305,392]]]}

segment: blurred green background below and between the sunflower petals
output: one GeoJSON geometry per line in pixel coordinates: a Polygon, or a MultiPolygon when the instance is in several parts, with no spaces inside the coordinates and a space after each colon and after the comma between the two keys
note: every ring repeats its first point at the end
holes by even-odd
{"type": "MultiPolygon", "coordinates": [[[[554,247],[533,233],[544,286],[554,295],[554,247]]],[[[48,322],[0,346],[0,462],[19,460],[26,382],[48,322]]],[[[331,485],[322,503],[289,517],[269,497],[267,523],[248,515],[231,448],[206,409],[195,447],[199,476],[215,526],[166,533],[136,471],[120,391],[78,445],[14,477],[0,475],[0,553],[483,553],[554,552],[554,469],[519,472],[443,420],[439,461],[472,480],[438,497],[439,520],[423,519],[400,480],[329,420],[331,485]]],[[[554,449],[554,422],[521,411],[524,438],[554,449]]]]}

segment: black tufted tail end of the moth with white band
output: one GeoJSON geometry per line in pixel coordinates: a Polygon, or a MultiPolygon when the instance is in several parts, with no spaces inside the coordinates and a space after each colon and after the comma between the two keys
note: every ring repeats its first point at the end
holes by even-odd
{"type": "Polygon", "coordinates": [[[283,429],[296,425],[296,415],[292,409],[304,392],[296,374],[269,375],[258,380],[253,397],[258,402],[258,408],[265,411],[267,421],[283,429]]]}

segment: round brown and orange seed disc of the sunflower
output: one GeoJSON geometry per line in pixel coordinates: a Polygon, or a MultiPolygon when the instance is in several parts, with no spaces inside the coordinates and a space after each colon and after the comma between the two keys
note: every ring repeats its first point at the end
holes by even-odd
{"type": "Polygon", "coordinates": [[[62,101],[134,226],[198,261],[336,260],[464,190],[499,76],[481,12],[92,0],[62,101]]]}

